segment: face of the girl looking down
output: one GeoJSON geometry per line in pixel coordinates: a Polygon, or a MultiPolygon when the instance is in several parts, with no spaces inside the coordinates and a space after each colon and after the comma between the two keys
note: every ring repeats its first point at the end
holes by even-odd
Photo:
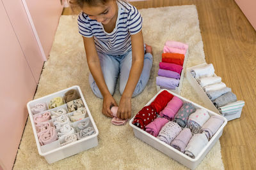
{"type": "Polygon", "coordinates": [[[97,6],[89,6],[84,4],[83,12],[88,15],[92,20],[97,20],[106,25],[109,21],[113,20],[117,15],[117,4],[116,1],[108,1],[106,4],[97,4],[97,6]]]}

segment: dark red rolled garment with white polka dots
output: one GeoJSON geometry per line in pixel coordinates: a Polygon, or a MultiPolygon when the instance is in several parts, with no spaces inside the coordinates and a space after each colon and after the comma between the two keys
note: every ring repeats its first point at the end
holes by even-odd
{"type": "Polygon", "coordinates": [[[136,114],[132,124],[145,131],[146,125],[153,122],[156,117],[156,110],[151,105],[145,106],[136,114]]]}

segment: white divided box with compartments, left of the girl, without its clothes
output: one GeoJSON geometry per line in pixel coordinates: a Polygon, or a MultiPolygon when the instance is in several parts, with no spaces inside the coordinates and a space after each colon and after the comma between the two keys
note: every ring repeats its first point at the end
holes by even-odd
{"type": "MultiPolygon", "coordinates": [[[[33,127],[33,132],[35,135],[38,153],[40,155],[42,155],[45,158],[45,160],[47,160],[47,162],[49,164],[56,162],[58,160],[64,159],[66,157],[70,157],[71,155],[74,155],[76,153],[83,152],[84,150],[88,150],[88,149],[93,148],[98,145],[97,136],[99,134],[99,131],[95,125],[95,122],[93,121],[92,115],[91,115],[90,110],[86,104],[86,101],[84,100],[83,94],[82,94],[79,86],[73,86],[68,89],[61,90],[59,92],[55,92],[54,94],[49,94],[48,96],[44,96],[39,99],[29,101],[29,103],[27,104],[27,107],[28,107],[31,124],[33,127]],[[92,129],[94,130],[94,133],[90,134],[89,136],[85,136],[84,138],[77,139],[76,141],[73,141],[72,143],[68,143],[67,145],[61,145],[61,144],[63,144],[63,140],[64,140],[61,137],[58,137],[58,139],[56,141],[53,141],[52,143],[49,143],[46,145],[40,145],[40,141],[38,139],[38,134],[36,133],[36,125],[35,125],[33,118],[37,114],[45,113],[45,111],[42,111],[42,113],[33,114],[31,111],[31,108],[33,108],[38,103],[46,103],[47,107],[49,108],[49,103],[50,103],[51,99],[53,99],[54,97],[61,97],[63,99],[63,97],[65,96],[65,93],[68,92],[68,90],[76,90],[77,93],[79,94],[79,97],[81,97],[80,99],[83,101],[84,108],[86,108],[86,115],[83,119],[78,120],[77,122],[71,121],[68,124],[70,125],[70,127],[74,128],[74,130],[75,130],[74,132],[75,132],[75,134],[77,134],[79,131],[77,130],[76,125],[79,124],[80,122],[89,121],[89,124],[86,127],[92,127],[92,129]]],[[[65,114],[65,115],[68,118],[70,118],[74,113],[74,112],[68,113],[69,111],[68,111],[66,103],[61,106],[58,106],[56,108],[48,109],[47,111],[50,111],[50,113],[51,113],[51,111],[56,111],[56,110],[58,110],[58,108],[63,108],[64,110],[66,110],[67,114],[65,114]]],[[[51,117],[51,119],[48,120],[47,122],[49,122],[51,124],[51,126],[56,129],[56,127],[54,126],[54,120],[56,120],[56,118],[51,117]]],[[[60,129],[56,129],[56,132],[60,132],[60,129]]]]}

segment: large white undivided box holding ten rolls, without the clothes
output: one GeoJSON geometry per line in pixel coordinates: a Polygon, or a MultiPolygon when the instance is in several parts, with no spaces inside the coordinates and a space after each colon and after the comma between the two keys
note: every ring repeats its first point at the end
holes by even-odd
{"type": "MultiPolygon", "coordinates": [[[[163,90],[164,89],[157,92],[156,96],[154,96],[152,99],[150,99],[150,101],[148,101],[148,103],[145,104],[145,106],[148,106],[150,103],[152,103],[152,101],[154,101],[154,99],[156,99],[157,95],[160,94],[163,90]]],[[[133,122],[135,116],[131,118],[129,124],[132,127],[136,138],[141,139],[148,145],[156,148],[160,152],[163,152],[164,154],[168,155],[169,157],[176,160],[180,164],[183,164],[184,166],[186,166],[190,169],[195,169],[198,166],[198,164],[200,164],[200,162],[204,159],[205,155],[207,155],[207,153],[211,150],[212,146],[214,146],[215,143],[220,138],[220,136],[223,132],[223,128],[227,124],[227,119],[224,117],[221,117],[220,115],[218,115],[217,113],[214,113],[211,110],[207,110],[206,108],[189,101],[188,99],[185,99],[184,97],[179,96],[178,94],[175,94],[174,92],[171,92],[170,90],[167,90],[167,91],[170,94],[172,94],[173,96],[179,97],[183,102],[189,102],[189,103],[193,104],[193,106],[195,106],[196,109],[202,108],[202,109],[206,110],[210,116],[213,116],[213,115],[218,116],[221,119],[223,119],[223,121],[224,121],[223,124],[221,125],[221,127],[218,129],[218,131],[212,136],[212,138],[209,140],[207,145],[201,150],[201,152],[195,157],[195,159],[192,159],[188,155],[185,155],[184,153],[180,152],[179,150],[176,150],[175,148],[173,148],[172,146],[164,143],[163,141],[160,141],[159,139],[152,136],[148,132],[143,131],[143,129],[140,129],[136,125],[133,125],[132,122],[133,122]]]]}

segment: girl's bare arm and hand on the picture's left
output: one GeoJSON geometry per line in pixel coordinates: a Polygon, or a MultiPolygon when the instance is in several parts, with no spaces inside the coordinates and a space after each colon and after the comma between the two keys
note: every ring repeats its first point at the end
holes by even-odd
{"type": "Polygon", "coordinates": [[[86,52],[86,59],[92,73],[93,79],[95,80],[99,90],[103,96],[103,104],[102,104],[102,113],[107,117],[113,117],[111,115],[110,106],[113,104],[117,106],[115,99],[110,94],[106,82],[104,80],[102,70],[100,67],[100,60],[95,48],[95,43],[93,37],[86,38],[83,36],[84,41],[84,49],[86,52]]]}

